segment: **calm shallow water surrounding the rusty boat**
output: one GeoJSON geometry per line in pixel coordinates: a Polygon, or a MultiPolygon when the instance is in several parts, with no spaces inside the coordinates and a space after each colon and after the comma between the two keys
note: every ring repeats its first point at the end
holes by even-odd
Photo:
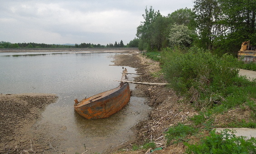
{"type": "MultiPolygon", "coordinates": [[[[57,94],[58,101],[47,106],[34,129],[56,139],[59,144],[54,150],[58,153],[82,153],[84,145],[91,152],[104,152],[126,142],[132,135],[130,127],[150,111],[144,98],[132,96],[128,106],[106,119],[86,120],[74,112],[75,98],[81,100],[119,85],[113,80],[121,79],[122,67],[111,66],[115,54],[0,53],[0,93],[57,94]]],[[[130,84],[130,89],[134,88],[130,84]]]]}

